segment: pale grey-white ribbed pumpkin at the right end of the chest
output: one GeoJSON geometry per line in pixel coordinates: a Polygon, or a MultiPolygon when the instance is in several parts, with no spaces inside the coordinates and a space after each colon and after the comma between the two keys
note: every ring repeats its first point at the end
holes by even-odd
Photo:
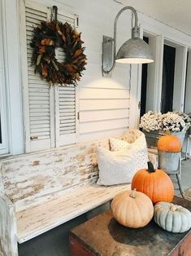
{"type": "Polygon", "coordinates": [[[191,213],[180,205],[159,202],[154,205],[154,221],[168,232],[182,233],[191,227],[191,213]]]}

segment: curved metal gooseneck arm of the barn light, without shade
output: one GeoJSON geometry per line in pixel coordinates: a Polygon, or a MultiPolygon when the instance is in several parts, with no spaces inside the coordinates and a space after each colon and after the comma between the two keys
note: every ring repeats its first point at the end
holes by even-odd
{"type": "Polygon", "coordinates": [[[113,64],[110,70],[106,71],[106,73],[110,73],[111,70],[115,67],[115,57],[116,57],[116,33],[117,33],[117,21],[119,19],[119,15],[126,10],[131,10],[135,16],[135,26],[132,28],[132,38],[139,38],[140,36],[140,29],[138,27],[138,17],[137,11],[133,7],[124,7],[122,8],[115,17],[114,22],[114,51],[113,51],[113,64]]]}

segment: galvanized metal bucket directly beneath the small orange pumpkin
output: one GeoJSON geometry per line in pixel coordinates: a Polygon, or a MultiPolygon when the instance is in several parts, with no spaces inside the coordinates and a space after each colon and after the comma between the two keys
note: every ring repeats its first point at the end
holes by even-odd
{"type": "Polygon", "coordinates": [[[179,170],[180,152],[158,150],[158,166],[160,169],[173,173],[179,170]]]}

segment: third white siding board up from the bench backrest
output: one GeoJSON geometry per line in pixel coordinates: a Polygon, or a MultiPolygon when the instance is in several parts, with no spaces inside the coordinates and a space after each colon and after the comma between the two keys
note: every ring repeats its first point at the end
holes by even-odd
{"type": "Polygon", "coordinates": [[[129,109],[127,108],[80,112],[80,122],[111,120],[128,117],[129,109]]]}

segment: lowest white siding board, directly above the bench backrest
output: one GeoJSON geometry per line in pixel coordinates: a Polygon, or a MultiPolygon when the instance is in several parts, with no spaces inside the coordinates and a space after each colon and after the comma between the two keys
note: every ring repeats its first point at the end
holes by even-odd
{"type": "Polygon", "coordinates": [[[125,130],[128,130],[128,127],[125,126],[119,129],[100,130],[100,131],[94,131],[86,134],[81,134],[79,142],[85,142],[91,139],[119,137],[119,135],[123,134],[125,130]]]}

